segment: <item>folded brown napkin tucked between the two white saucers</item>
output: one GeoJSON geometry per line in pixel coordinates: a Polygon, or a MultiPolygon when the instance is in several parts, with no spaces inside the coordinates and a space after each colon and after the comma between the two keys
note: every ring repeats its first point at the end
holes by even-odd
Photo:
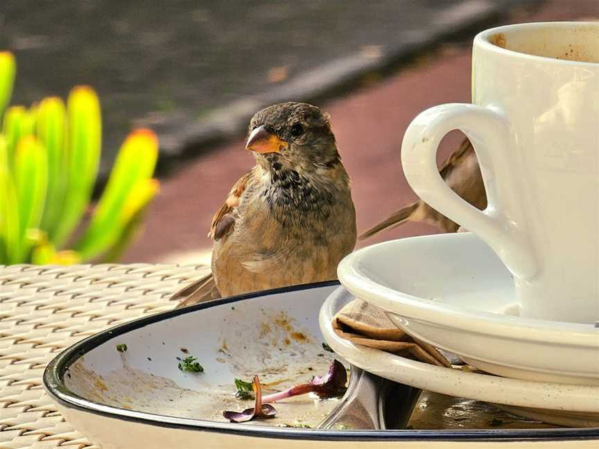
{"type": "Polygon", "coordinates": [[[339,337],[355,344],[451,368],[449,360],[434,346],[410,337],[383,310],[361,299],[354,299],[335,315],[333,329],[339,337]]]}

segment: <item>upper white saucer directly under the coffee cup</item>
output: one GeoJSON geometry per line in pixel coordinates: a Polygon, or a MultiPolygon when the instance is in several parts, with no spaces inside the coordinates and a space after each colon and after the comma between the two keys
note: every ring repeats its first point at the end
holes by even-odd
{"type": "Polygon", "coordinates": [[[372,245],[343,259],[338,275],[410,335],[483,371],[599,385],[599,328],[517,316],[510,272],[472,234],[372,245]]]}

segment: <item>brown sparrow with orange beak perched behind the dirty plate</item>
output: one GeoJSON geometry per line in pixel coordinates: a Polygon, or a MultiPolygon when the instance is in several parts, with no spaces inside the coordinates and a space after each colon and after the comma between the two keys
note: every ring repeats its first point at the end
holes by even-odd
{"type": "Polygon", "coordinates": [[[336,279],[356,243],[356,211],[329,116],[281,103],[252,118],[256,165],[212,219],[212,272],[181,290],[180,306],[336,279]]]}

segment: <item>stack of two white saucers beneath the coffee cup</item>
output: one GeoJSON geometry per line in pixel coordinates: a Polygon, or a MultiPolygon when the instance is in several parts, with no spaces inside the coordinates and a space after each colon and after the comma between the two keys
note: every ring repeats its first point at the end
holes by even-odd
{"type": "Polygon", "coordinates": [[[351,363],[414,387],[525,407],[519,414],[545,421],[599,424],[599,328],[519,317],[510,272],[478,237],[373,245],[345,258],[338,274],[351,294],[388,312],[406,333],[490,374],[426,366],[340,340],[329,326],[338,301],[331,297],[321,330],[351,363]]]}

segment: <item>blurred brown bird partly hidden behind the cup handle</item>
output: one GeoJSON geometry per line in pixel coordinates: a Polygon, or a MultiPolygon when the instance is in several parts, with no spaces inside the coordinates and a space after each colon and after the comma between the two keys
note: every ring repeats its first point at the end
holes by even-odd
{"type": "MultiPolygon", "coordinates": [[[[468,139],[465,139],[460,148],[444,162],[440,169],[441,177],[446,184],[455,193],[478,209],[487,207],[487,193],[483,177],[480,175],[478,159],[474,153],[474,148],[468,139]]],[[[383,229],[397,227],[405,222],[423,222],[431,224],[443,232],[456,232],[460,225],[449,220],[445,215],[435,211],[424,201],[417,200],[408,206],[403,207],[392,214],[386,220],[383,220],[361,234],[360,240],[374,236],[383,229]]]]}

